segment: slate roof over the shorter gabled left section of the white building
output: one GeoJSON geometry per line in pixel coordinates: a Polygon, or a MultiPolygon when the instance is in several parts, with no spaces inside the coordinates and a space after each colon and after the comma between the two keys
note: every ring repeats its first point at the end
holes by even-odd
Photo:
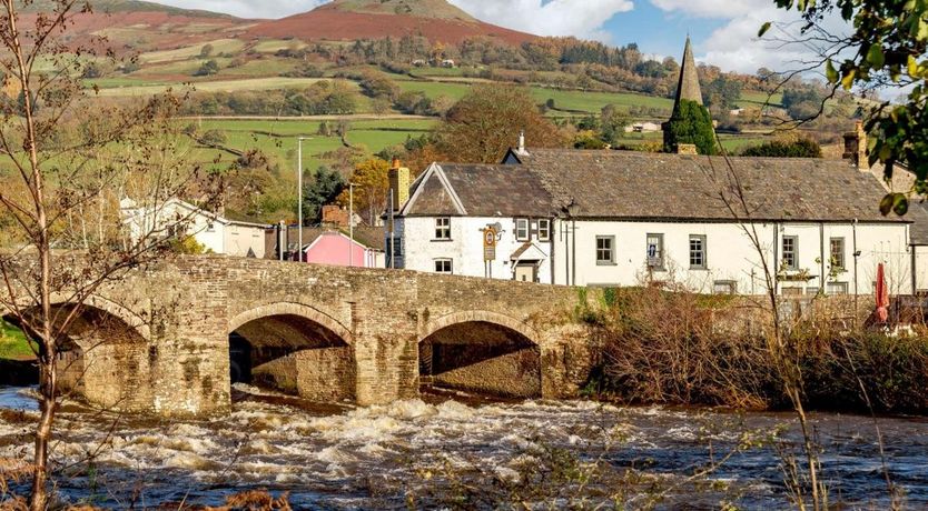
{"type": "Polygon", "coordinates": [[[401,216],[547,218],[552,204],[541,177],[526,167],[435,163],[414,183],[401,216]]]}

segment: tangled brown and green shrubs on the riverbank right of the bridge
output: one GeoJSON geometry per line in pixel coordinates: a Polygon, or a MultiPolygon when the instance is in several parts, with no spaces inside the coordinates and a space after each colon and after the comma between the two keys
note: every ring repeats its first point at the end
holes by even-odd
{"type": "MultiPolygon", "coordinates": [[[[634,404],[790,407],[782,365],[760,334],[769,328],[743,302],[656,289],[614,290],[606,299],[605,313],[579,311],[601,330],[603,342],[588,394],[634,404]]],[[[787,334],[789,363],[799,369],[808,407],[928,414],[928,338],[840,331],[827,323],[797,321],[787,334]]]]}

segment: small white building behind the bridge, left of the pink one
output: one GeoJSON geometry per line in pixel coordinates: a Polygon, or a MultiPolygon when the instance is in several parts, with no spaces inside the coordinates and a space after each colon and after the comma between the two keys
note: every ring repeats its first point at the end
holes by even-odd
{"type": "Polygon", "coordinates": [[[169,199],[148,207],[138,207],[134,201],[124,199],[121,209],[124,223],[134,242],[142,238],[167,238],[182,232],[192,236],[213,253],[265,257],[265,231],[270,226],[229,220],[180,199],[169,199]]]}

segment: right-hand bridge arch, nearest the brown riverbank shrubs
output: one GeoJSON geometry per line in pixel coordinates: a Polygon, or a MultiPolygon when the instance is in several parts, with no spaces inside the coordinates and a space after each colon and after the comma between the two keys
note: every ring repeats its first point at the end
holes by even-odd
{"type": "Polygon", "coordinates": [[[496,312],[461,311],[440,317],[419,335],[419,387],[540,398],[540,341],[534,328],[496,312]]]}

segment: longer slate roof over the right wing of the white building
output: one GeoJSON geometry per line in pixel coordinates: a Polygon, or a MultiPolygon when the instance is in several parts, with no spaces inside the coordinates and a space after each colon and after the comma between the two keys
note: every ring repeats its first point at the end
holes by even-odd
{"type": "MultiPolygon", "coordinates": [[[[731,220],[719,198],[730,176],[724,159],[688,154],[529,149],[520,156],[555,209],[571,200],[577,217],[731,220]],[[717,181],[713,183],[712,177],[717,181]]],[[[908,222],[883,217],[886,193],[846,160],[731,158],[754,220],[908,222]]]]}

